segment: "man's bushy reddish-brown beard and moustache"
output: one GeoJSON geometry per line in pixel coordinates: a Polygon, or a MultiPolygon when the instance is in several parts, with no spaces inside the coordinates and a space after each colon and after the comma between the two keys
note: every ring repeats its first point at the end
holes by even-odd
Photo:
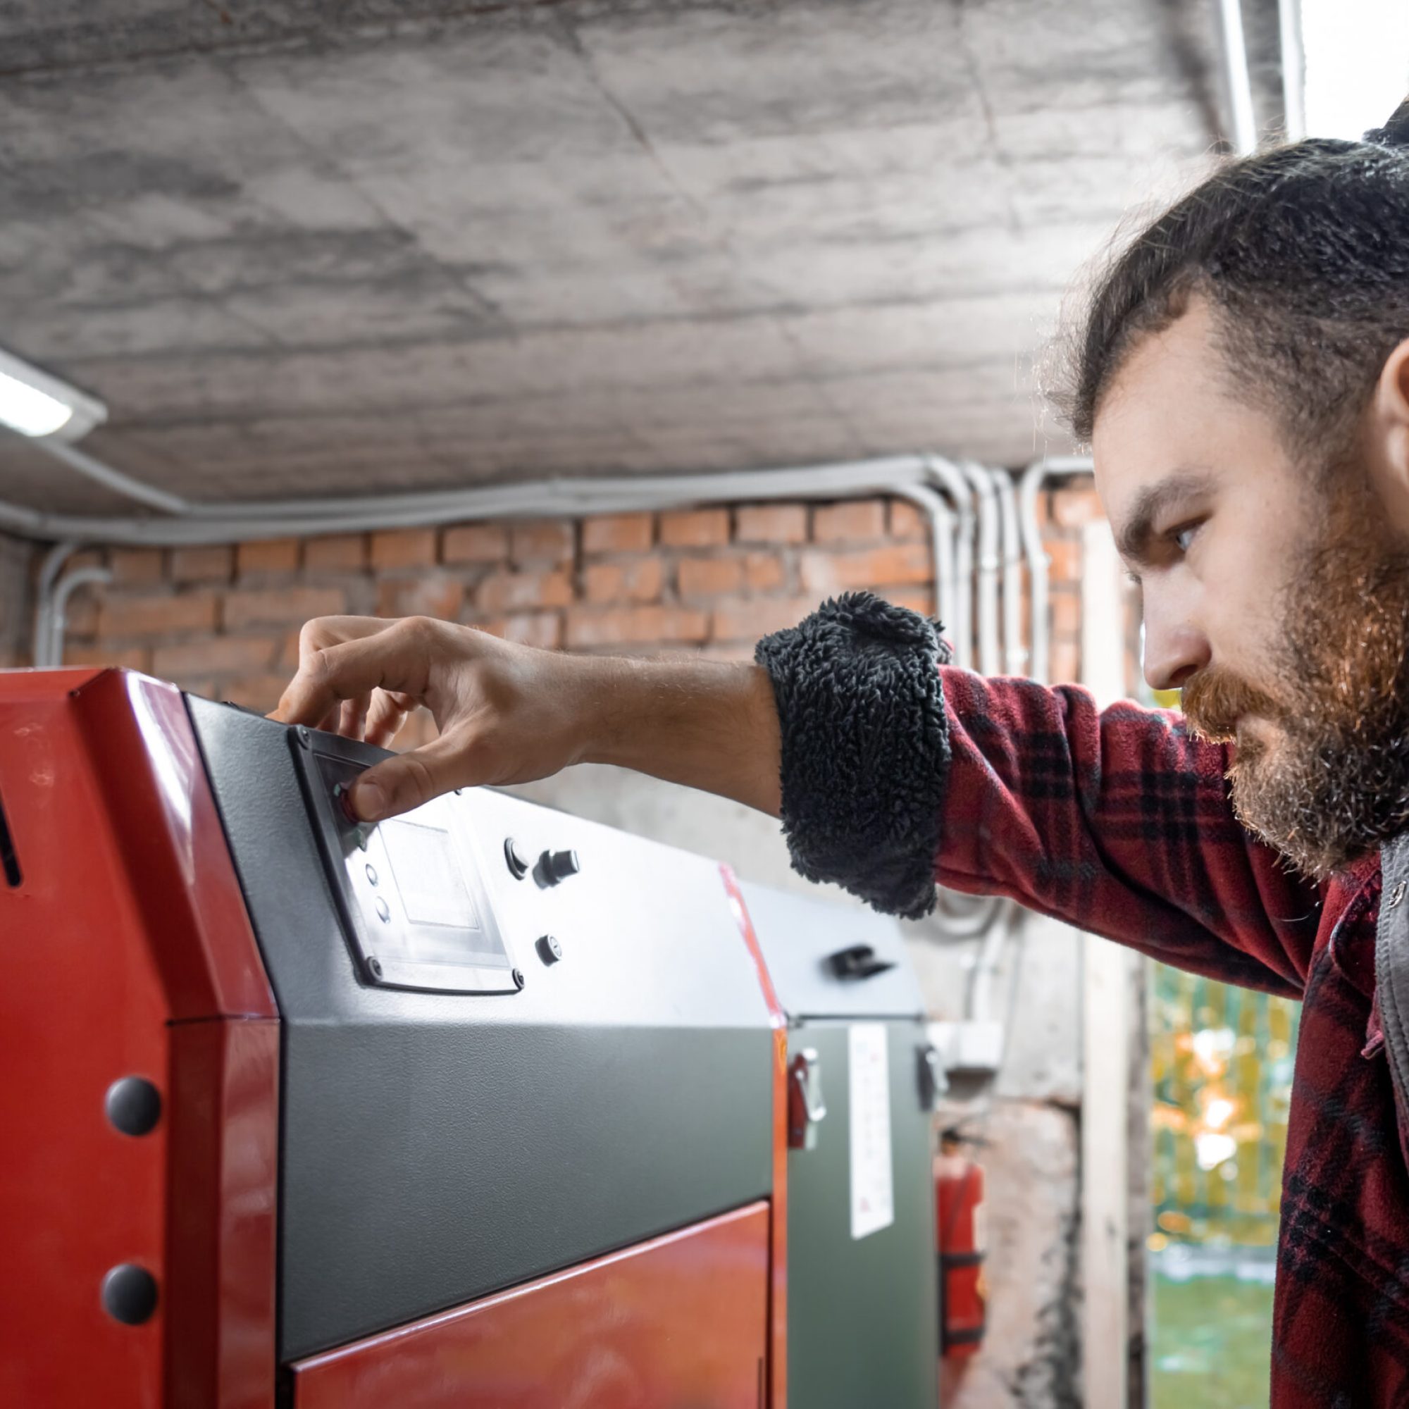
{"type": "Polygon", "coordinates": [[[1409,827],[1409,551],[1368,490],[1340,490],[1282,602],[1274,693],[1223,666],[1192,676],[1195,733],[1236,743],[1239,820],[1316,881],[1409,827]],[[1237,737],[1239,716],[1272,740],[1237,737]]]}

